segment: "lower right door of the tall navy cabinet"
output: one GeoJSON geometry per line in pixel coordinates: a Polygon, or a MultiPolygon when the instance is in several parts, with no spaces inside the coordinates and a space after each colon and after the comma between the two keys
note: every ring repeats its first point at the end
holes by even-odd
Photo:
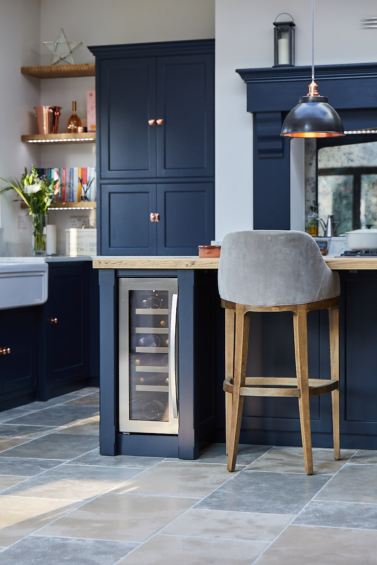
{"type": "Polygon", "coordinates": [[[214,186],[183,182],[157,186],[158,255],[197,255],[214,238],[214,186]]]}

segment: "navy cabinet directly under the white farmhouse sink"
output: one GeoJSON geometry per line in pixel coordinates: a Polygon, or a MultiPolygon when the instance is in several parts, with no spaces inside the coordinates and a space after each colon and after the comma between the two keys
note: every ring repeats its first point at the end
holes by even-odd
{"type": "Polygon", "coordinates": [[[37,391],[40,307],[0,312],[0,410],[32,402],[37,391]]]}

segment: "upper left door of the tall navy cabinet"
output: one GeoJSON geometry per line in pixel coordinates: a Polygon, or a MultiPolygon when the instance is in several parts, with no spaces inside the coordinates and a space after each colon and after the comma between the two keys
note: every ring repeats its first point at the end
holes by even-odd
{"type": "Polygon", "coordinates": [[[155,59],[101,62],[101,175],[155,176],[155,59]]]}

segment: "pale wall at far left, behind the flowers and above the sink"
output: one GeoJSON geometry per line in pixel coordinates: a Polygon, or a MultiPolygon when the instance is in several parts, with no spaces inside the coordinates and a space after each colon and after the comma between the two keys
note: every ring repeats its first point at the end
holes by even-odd
{"type": "MultiPolygon", "coordinates": [[[[40,99],[38,84],[29,85],[20,73],[21,65],[39,63],[40,0],[0,0],[0,175],[20,177],[25,164],[36,163],[35,146],[22,144],[28,133],[29,108],[40,99]]],[[[5,183],[2,182],[2,186],[5,183]]],[[[18,215],[25,215],[11,192],[1,195],[2,236],[8,242],[25,241],[18,229],[18,215]]],[[[27,234],[31,241],[31,234],[27,234]]],[[[0,240],[0,253],[1,253],[0,240]]]]}

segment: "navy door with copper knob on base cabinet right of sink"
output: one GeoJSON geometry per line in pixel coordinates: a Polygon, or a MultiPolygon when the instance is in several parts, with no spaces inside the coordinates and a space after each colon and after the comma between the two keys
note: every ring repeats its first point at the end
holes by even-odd
{"type": "Polygon", "coordinates": [[[88,371],[87,287],[84,267],[49,270],[45,324],[46,376],[50,385],[88,371]],[[51,319],[57,322],[51,323],[51,319]]]}

